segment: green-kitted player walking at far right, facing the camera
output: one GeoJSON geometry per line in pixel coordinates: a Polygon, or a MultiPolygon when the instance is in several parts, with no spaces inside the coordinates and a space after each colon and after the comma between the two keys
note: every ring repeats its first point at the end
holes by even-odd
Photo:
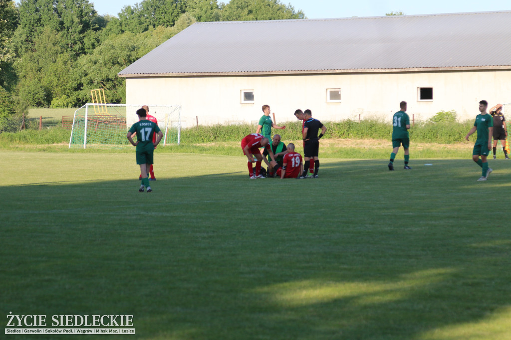
{"type": "Polygon", "coordinates": [[[472,159],[480,167],[482,167],[482,176],[478,179],[478,181],[486,181],[490,173],[493,171],[493,169],[488,166],[488,161],[486,159],[486,157],[490,154],[490,150],[492,150],[493,137],[493,117],[486,112],[487,107],[488,102],[479,102],[479,112],[481,113],[476,116],[474,126],[465,136],[465,139],[469,140],[470,135],[477,131],[477,139],[474,144],[472,159]],[[481,156],[481,158],[479,158],[479,156],[481,156]]]}

